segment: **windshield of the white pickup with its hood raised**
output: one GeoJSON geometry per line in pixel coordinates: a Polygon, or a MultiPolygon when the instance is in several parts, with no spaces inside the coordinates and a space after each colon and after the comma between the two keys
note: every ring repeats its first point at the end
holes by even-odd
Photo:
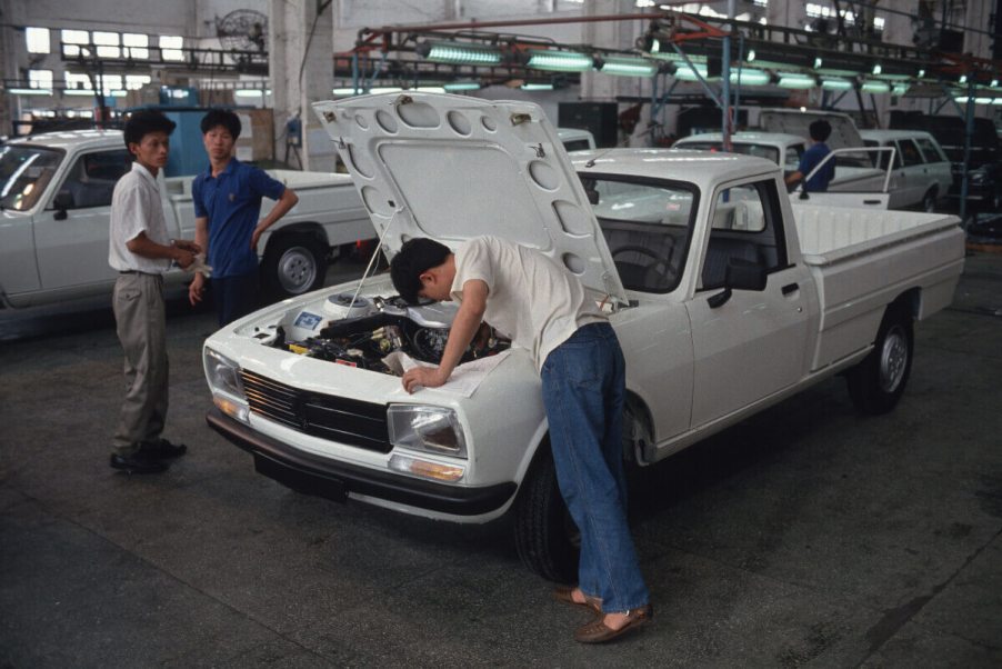
{"type": "Polygon", "coordinates": [[[581,182],[624,288],[669,292],[682,277],[698,204],[691,184],[589,174],[581,182]]]}

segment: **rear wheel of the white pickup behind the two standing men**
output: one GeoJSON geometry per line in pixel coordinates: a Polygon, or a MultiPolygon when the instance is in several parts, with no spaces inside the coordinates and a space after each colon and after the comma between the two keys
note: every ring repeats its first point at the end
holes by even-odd
{"type": "Polygon", "coordinates": [[[317,290],[327,273],[327,248],[310,233],[272,239],[264,251],[261,280],[273,296],[288,298],[317,290]]]}

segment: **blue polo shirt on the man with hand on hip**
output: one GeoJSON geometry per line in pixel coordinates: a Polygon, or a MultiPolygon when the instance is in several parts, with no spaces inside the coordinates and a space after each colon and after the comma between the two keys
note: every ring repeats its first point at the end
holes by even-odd
{"type": "Polygon", "coordinates": [[[209,267],[213,279],[258,271],[258,254],[250,248],[251,234],[261,216],[261,198],[278,200],[285,187],[264,170],[231,158],[212,177],[212,166],[194,178],[191,196],[194,216],[209,219],[209,267]]]}

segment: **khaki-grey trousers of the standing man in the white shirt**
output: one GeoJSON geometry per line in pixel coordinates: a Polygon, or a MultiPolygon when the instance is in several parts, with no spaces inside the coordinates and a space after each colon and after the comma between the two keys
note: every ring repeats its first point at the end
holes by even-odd
{"type": "Polygon", "coordinates": [[[167,420],[168,361],[163,278],[139,272],[114,282],[114,322],[126,352],[126,400],[112,446],[121,455],[157,440],[167,420]]]}

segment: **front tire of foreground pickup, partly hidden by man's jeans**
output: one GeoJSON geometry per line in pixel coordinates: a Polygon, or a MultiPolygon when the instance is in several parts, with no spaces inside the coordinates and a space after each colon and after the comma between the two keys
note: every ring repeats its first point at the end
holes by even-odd
{"type": "Polygon", "coordinates": [[[557,486],[550,449],[525,473],[514,513],[515,549],[522,563],[544,579],[578,582],[581,535],[557,486]]]}

